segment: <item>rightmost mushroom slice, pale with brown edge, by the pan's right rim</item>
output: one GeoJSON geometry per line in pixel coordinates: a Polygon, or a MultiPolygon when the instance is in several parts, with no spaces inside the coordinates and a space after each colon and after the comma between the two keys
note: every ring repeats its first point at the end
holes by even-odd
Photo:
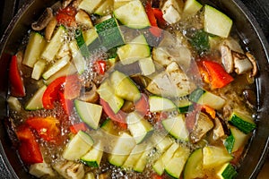
{"type": "Polygon", "coordinates": [[[243,74],[252,70],[253,66],[246,55],[234,52],[232,56],[235,72],[243,74]]]}

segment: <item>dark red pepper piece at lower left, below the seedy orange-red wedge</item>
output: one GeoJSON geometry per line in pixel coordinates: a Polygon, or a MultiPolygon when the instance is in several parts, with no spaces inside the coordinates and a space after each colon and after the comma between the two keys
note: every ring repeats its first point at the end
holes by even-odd
{"type": "Polygon", "coordinates": [[[18,150],[22,161],[29,165],[42,163],[43,158],[39,143],[30,128],[27,125],[22,125],[16,133],[21,142],[18,150]]]}

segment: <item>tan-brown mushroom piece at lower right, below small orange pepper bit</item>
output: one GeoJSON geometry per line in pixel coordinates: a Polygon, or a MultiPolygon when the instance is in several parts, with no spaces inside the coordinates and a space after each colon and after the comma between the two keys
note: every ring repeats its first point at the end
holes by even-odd
{"type": "Polygon", "coordinates": [[[195,115],[195,125],[192,131],[189,133],[190,141],[196,143],[201,141],[204,135],[212,130],[214,127],[211,118],[203,112],[198,112],[195,115]]]}

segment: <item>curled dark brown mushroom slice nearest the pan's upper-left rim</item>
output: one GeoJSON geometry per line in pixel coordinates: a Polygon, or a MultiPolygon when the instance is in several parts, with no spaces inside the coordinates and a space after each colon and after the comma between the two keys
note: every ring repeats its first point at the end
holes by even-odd
{"type": "Polygon", "coordinates": [[[39,17],[38,21],[31,24],[33,30],[43,30],[48,25],[48,22],[53,18],[53,10],[48,7],[44,13],[39,17]]]}

